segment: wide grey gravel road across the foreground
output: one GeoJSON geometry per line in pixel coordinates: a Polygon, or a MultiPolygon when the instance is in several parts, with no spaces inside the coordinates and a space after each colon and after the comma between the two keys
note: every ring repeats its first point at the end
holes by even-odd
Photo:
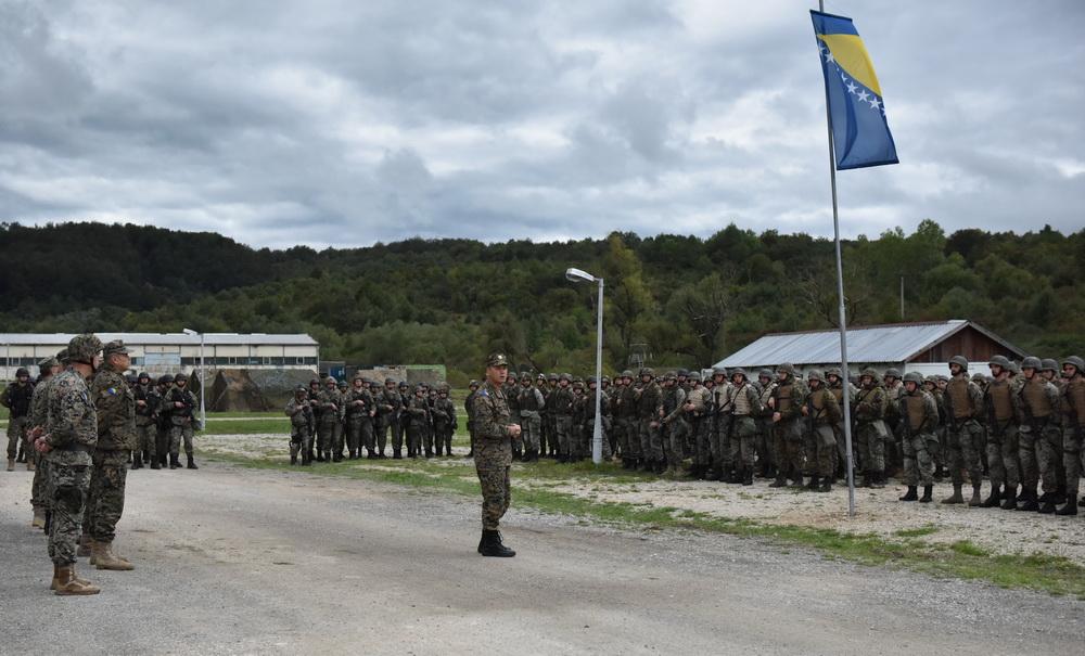
{"type": "Polygon", "coordinates": [[[990,656],[1085,640],[1082,602],[729,536],[513,510],[520,554],[483,558],[472,500],[214,463],[132,472],[117,546],[137,569],[81,565],[102,594],[58,597],[29,480],[0,472],[2,654],[990,656]]]}

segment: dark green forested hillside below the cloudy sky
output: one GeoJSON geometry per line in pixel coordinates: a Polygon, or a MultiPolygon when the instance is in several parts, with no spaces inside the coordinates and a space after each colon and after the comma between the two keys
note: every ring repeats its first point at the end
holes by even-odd
{"type": "MultiPolygon", "coordinates": [[[[924,220],[844,244],[850,324],[971,319],[1027,351],[1085,353],[1085,230],[1024,234],[924,220]]],[[[307,332],[321,358],[444,363],[488,349],[518,365],[587,371],[593,285],[605,279],[610,371],[643,357],[701,366],[770,332],[835,325],[831,240],[730,224],[711,237],[484,244],[410,239],[365,248],[255,249],[215,233],[133,224],[0,224],[10,332],[307,332]]]]}

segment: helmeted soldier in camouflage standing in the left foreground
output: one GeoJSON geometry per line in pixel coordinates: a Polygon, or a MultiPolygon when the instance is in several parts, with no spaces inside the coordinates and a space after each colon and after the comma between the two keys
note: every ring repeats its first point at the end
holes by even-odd
{"type": "Polygon", "coordinates": [[[68,369],[50,384],[43,430],[36,430],[34,448],[49,461],[52,517],[49,557],[51,588],[59,595],[98,594],[101,590],[75,573],[76,545],[98,445],[98,413],[87,387],[101,363],[102,343],[94,335],[77,335],[67,347],[68,369]]]}

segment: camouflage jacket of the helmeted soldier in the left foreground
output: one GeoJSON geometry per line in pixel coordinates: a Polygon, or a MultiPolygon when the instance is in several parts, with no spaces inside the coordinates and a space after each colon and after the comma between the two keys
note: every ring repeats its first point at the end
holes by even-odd
{"type": "Polygon", "coordinates": [[[49,461],[89,466],[98,446],[98,411],[82,374],[68,369],[53,376],[46,412],[46,441],[53,448],[49,461]]]}

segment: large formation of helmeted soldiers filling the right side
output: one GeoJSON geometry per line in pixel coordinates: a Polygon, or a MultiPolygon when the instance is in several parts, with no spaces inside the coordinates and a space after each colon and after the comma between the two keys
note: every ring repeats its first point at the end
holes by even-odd
{"type": "MultiPolygon", "coordinates": [[[[926,377],[895,369],[845,377],[832,368],[804,377],[791,364],[754,376],[717,368],[703,380],[685,370],[624,371],[599,382],[603,456],[671,478],[749,486],[761,477],[769,487],[828,492],[846,479],[846,394],[857,485],[897,478],[907,487],[901,501],[929,503],[934,485],[948,479],[945,504],[1076,515],[1085,363],[995,356],[988,369],[970,373],[956,356],[945,375],[926,377]]],[[[567,373],[510,373],[502,396],[523,427],[513,459],[589,458],[596,385],[567,373]]],[[[472,446],[478,389],[472,381],[472,446]]]]}

